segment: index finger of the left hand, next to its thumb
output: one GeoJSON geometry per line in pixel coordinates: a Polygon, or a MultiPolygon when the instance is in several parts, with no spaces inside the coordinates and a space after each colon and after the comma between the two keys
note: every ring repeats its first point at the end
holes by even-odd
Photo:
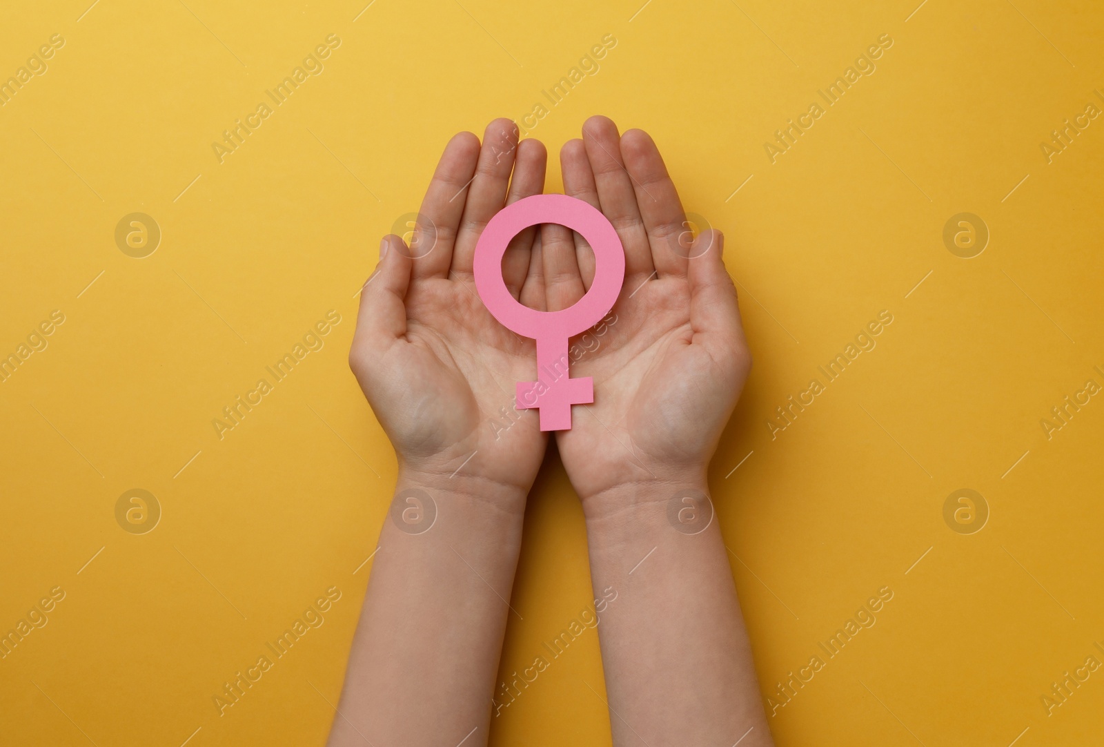
{"type": "MultiPolygon", "coordinates": [[[[444,277],[453,262],[453,244],[464,214],[464,194],[476,170],[479,139],[458,133],[445,146],[426,189],[411,239],[414,277],[444,277]]],[[[404,244],[405,245],[405,244],[404,244]]]]}

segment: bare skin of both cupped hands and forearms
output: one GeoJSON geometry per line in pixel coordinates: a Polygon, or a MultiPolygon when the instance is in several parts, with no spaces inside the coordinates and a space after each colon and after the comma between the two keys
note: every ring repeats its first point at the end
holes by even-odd
{"type": "MultiPolygon", "coordinates": [[[[545,162],[507,119],[481,146],[455,136],[411,244],[386,236],[361,293],[349,359],[395,446],[399,506],[380,535],[332,747],[487,741],[506,624],[518,616],[509,599],[526,496],[549,434],[535,410],[512,409],[534,344],[486,311],[471,264],[487,221],[542,191],[545,162]],[[513,424],[495,428],[503,407],[513,424]],[[408,488],[428,494],[432,523],[423,498],[402,512],[408,488]],[[396,518],[407,514],[413,524],[396,518]]],[[[689,241],[640,130],[620,136],[593,117],[561,166],[565,192],[605,213],[626,254],[616,320],[571,368],[594,378],[595,403],[575,406],[572,429],[555,434],[583,502],[595,597],[616,590],[598,625],[607,692],[595,695],[618,747],[769,745],[718,524],[687,534],[668,519],[676,492],[708,495],[707,467],[751,365],[723,236],[689,241]]],[[[593,252],[559,225],[522,232],[503,260],[507,287],[541,311],[575,303],[593,276],[593,252]]]]}

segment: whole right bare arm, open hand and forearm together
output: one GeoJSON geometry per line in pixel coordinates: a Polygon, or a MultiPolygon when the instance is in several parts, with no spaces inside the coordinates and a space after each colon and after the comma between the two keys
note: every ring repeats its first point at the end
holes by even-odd
{"type": "MultiPolygon", "coordinates": [[[[565,191],[599,208],[625,248],[608,329],[577,367],[594,378],[594,404],[556,433],[586,515],[595,597],[617,595],[598,625],[614,744],[771,745],[705,497],[751,366],[724,238],[690,224],[640,130],[622,136],[592,117],[560,161],[565,191]]],[[[572,278],[550,291],[549,306],[566,307],[594,277],[593,252],[559,227],[542,239],[545,275],[572,278]]]]}

